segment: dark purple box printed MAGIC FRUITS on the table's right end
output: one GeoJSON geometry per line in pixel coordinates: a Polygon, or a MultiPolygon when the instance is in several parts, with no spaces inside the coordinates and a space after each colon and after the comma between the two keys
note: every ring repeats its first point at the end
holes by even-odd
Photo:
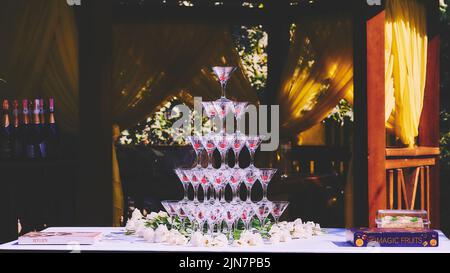
{"type": "Polygon", "coordinates": [[[437,247],[439,234],[432,229],[356,228],[347,230],[347,241],[356,247],[437,247]]]}

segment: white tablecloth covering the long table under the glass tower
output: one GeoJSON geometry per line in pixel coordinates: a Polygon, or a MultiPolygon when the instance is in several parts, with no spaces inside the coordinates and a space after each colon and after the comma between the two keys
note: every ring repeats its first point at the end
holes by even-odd
{"type": "Polygon", "coordinates": [[[450,240],[439,232],[439,247],[398,248],[368,247],[356,248],[346,243],[344,229],[325,229],[326,234],[311,239],[297,239],[287,243],[265,244],[257,247],[191,247],[152,244],[134,236],[124,235],[123,228],[65,227],[49,228],[48,232],[103,232],[103,239],[94,245],[82,246],[29,246],[18,245],[17,241],[0,245],[0,251],[108,251],[108,252],[254,252],[254,253],[450,253],[450,240]]]}

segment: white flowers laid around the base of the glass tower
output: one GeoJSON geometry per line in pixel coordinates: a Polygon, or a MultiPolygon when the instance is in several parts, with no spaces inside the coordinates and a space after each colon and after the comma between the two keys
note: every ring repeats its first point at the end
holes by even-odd
{"type": "MultiPolygon", "coordinates": [[[[258,221],[254,221],[252,224],[258,230],[256,233],[238,228],[233,235],[232,245],[235,247],[261,246],[264,244],[264,239],[271,244],[277,244],[293,239],[308,239],[324,233],[319,224],[304,223],[301,219],[278,224],[268,222],[263,227],[258,226],[257,223],[258,221]]],[[[127,235],[138,236],[148,243],[193,247],[225,247],[229,243],[225,234],[204,235],[200,231],[193,232],[191,227],[190,222],[182,225],[180,219],[173,218],[163,211],[152,212],[144,217],[138,209],[135,209],[125,229],[127,235]]]]}

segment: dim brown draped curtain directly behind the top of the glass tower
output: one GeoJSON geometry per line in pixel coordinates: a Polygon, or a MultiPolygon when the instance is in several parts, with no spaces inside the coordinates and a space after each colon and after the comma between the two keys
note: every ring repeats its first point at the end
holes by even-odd
{"type": "MultiPolygon", "coordinates": [[[[221,64],[240,65],[227,27],[167,22],[114,27],[114,120],[129,128],[182,91],[218,98],[210,67],[221,64]]],[[[242,73],[233,76],[229,90],[256,101],[242,73]]]]}

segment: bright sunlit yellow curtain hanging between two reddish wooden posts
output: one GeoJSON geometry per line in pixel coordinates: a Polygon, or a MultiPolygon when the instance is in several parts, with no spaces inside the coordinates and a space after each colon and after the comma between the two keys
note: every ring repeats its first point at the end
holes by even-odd
{"type": "Polygon", "coordinates": [[[386,2],[387,128],[414,146],[423,107],[427,65],[426,9],[417,0],[386,2]]]}

